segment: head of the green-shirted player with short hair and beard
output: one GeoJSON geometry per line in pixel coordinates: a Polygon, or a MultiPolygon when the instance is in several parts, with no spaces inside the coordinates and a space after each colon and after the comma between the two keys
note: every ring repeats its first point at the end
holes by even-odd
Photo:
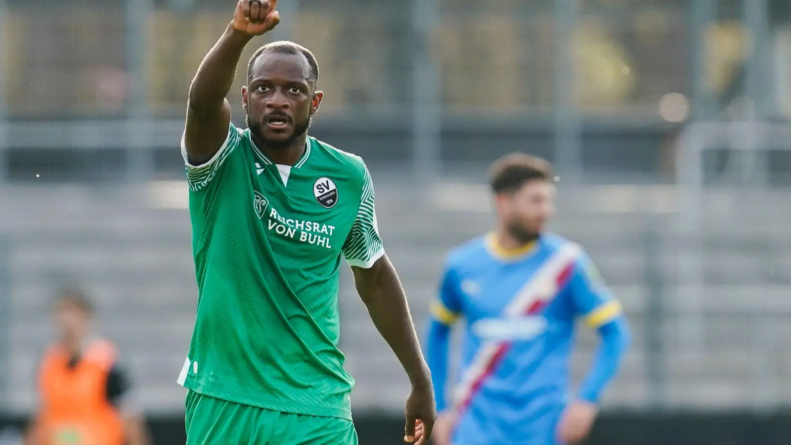
{"type": "Polygon", "coordinates": [[[290,147],[310,127],[324,93],[316,90],[319,65],[307,48],[273,42],[255,51],[242,87],[247,125],[269,148],[290,147]]]}

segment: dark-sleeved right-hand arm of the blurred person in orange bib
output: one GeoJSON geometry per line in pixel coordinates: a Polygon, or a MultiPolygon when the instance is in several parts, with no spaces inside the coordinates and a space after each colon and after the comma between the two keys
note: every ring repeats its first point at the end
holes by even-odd
{"type": "Polygon", "coordinates": [[[121,414],[128,445],[152,443],[130,378],[118,363],[110,369],[107,377],[107,399],[121,414]]]}

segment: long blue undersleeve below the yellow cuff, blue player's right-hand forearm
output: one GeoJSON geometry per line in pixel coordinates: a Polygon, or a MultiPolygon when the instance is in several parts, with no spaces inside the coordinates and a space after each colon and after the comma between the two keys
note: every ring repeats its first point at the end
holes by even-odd
{"type": "Polygon", "coordinates": [[[580,389],[580,398],[598,403],[604,388],[615,377],[630,344],[630,333],[623,316],[599,329],[601,343],[591,371],[580,389]]]}

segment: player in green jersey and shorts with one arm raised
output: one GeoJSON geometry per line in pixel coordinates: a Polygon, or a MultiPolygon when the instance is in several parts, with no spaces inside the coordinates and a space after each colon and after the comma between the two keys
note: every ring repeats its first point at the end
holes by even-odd
{"type": "Polygon", "coordinates": [[[187,163],[197,318],[179,382],[187,444],[353,445],[354,380],[339,351],[342,257],[373,323],[412,383],[404,439],[426,443],[435,409],[407,301],[377,230],[361,158],[307,135],[323,93],[312,53],[255,52],[241,90],[245,130],[225,99],[244,46],[280,21],[241,0],[192,81],[187,163]]]}

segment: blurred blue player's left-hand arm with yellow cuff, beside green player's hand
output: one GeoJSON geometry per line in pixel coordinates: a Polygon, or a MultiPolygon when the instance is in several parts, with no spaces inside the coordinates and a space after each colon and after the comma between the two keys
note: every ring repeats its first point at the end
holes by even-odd
{"type": "Polygon", "coordinates": [[[448,386],[448,348],[452,325],[459,319],[461,305],[458,280],[452,268],[445,268],[439,288],[439,297],[431,303],[426,361],[429,363],[437,412],[448,408],[445,389],[448,386]]]}

